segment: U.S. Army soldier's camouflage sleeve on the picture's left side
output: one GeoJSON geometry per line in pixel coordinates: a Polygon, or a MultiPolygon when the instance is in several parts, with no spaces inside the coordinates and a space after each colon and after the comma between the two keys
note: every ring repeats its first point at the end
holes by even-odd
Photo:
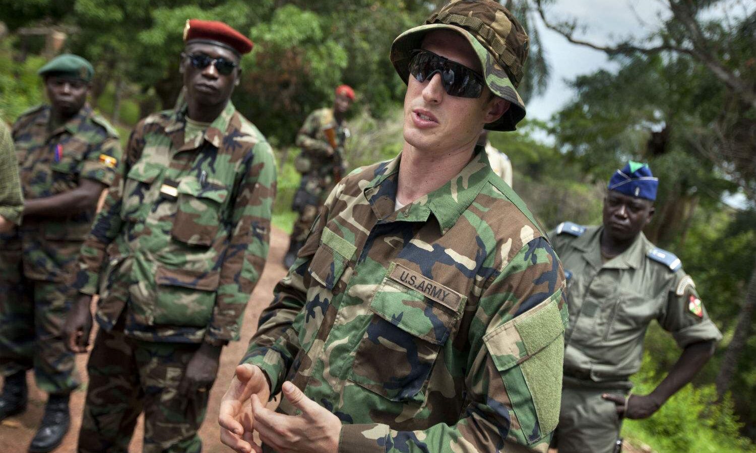
{"type": "MultiPolygon", "coordinates": [[[[328,202],[326,202],[326,205],[328,202]]],[[[268,376],[271,398],[280,392],[297,353],[299,353],[299,325],[305,316],[304,275],[310,260],[320,244],[325,227],[327,208],[315,219],[305,245],[299,249],[299,257],[288,273],[273,289],[273,302],[262,311],[258,329],[249,340],[249,347],[240,363],[258,365],[268,376]]]]}

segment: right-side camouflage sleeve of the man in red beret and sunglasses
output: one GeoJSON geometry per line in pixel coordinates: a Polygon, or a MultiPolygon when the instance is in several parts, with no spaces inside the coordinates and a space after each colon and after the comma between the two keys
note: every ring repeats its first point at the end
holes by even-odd
{"type": "Polygon", "coordinates": [[[228,228],[231,237],[221,267],[220,285],[206,337],[238,340],[249,294],[262,274],[268,257],[276,169],[271,146],[257,143],[244,163],[228,228]]]}

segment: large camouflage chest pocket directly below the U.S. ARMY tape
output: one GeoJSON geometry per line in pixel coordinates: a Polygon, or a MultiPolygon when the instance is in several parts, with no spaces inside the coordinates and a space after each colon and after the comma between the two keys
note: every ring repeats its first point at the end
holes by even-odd
{"type": "Polygon", "coordinates": [[[452,304],[440,304],[392,279],[397,267],[391,263],[370,302],[373,316],[349,380],[392,401],[423,402],[435,359],[460,319],[466,297],[457,294],[453,310],[452,304]]]}

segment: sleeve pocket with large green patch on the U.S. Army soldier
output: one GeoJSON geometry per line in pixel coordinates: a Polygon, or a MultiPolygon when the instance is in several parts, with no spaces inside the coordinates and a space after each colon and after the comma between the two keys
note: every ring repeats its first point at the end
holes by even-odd
{"type": "Polygon", "coordinates": [[[510,434],[532,445],[559,422],[564,362],[562,291],[483,337],[507,389],[519,429],[510,434]]]}

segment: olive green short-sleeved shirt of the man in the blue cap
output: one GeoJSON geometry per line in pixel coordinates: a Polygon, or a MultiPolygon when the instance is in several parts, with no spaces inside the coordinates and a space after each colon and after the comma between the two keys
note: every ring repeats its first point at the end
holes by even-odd
{"type": "Polygon", "coordinates": [[[627,379],[640,368],[643,338],[654,319],[681,348],[720,340],[677,257],[640,233],[630,248],[602,263],[602,230],[563,223],[550,234],[568,279],[565,381],[629,387],[627,379]]]}

